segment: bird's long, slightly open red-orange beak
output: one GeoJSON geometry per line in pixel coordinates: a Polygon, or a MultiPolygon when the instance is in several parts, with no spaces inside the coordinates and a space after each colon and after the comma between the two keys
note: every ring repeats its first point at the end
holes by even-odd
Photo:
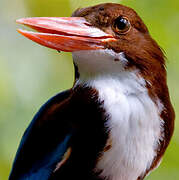
{"type": "Polygon", "coordinates": [[[19,29],[19,33],[59,51],[104,49],[107,41],[115,41],[112,35],[93,27],[82,17],[34,17],[19,19],[16,22],[39,31],[38,33],[19,29]]]}

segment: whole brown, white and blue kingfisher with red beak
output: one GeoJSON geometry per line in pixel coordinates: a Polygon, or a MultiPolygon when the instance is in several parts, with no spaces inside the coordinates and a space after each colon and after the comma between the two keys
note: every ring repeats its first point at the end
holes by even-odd
{"type": "Polygon", "coordinates": [[[174,131],[165,54],[130,7],[104,3],[71,17],[21,18],[18,32],[71,52],[74,85],[24,132],[9,180],[143,180],[174,131]]]}

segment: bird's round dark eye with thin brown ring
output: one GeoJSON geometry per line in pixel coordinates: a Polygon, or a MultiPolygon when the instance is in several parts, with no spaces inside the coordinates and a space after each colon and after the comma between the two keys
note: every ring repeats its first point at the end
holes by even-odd
{"type": "Polygon", "coordinates": [[[125,34],[129,31],[131,24],[129,20],[125,17],[119,16],[115,19],[113,24],[113,30],[118,34],[125,34]]]}

